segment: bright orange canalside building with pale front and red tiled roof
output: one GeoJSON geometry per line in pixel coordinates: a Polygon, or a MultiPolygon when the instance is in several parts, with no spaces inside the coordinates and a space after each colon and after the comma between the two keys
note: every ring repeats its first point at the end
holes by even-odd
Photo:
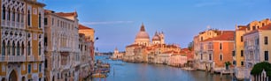
{"type": "MultiPolygon", "coordinates": [[[[232,53],[234,51],[234,31],[219,31],[216,37],[209,38],[200,42],[202,49],[200,50],[200,58],[204,64],[205,70],[214,70],[221,72],[227,70],[225,63],[233,63],[232,53]]],[[[228,70],[231,68],[228,66],[228,70]]]]}

